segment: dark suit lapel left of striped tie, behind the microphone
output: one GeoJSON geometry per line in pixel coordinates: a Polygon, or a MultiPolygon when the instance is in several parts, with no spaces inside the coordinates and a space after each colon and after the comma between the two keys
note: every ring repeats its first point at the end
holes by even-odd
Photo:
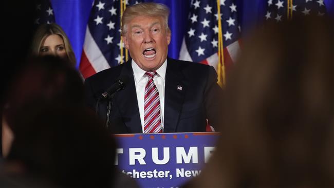
{"type": "Polygon", "coordinates": [[[128,133],[142,133],[131,60],[125,63],[121,75],[129,77],[129,82],[127,86],[119,92],[119,100],[117,101],[121,117],[123,118],[128,133]]]}

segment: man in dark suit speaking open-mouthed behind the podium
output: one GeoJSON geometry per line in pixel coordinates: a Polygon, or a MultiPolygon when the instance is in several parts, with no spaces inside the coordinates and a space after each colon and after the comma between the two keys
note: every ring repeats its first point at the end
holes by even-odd
{"type": "MultiPolygon", "coordinates": [[[[122,36],[132,60],[86,79],[88,106],[117,78],[128,78],[116,93],[110,113],[114,133],[206,131],[220,122],[221,89],[212,66],[167,58],[171,31],[168,7],[141,3],[126,8],[122,36]]],[[[106,118],[106,101],[99,115],[106,118]]]]}

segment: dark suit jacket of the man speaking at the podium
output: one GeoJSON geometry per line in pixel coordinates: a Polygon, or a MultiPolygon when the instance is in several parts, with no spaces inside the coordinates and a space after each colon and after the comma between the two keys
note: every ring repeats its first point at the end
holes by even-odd
{"type": "MultiPolygon", "coordinates": [[[[110,130],[113,133],[142,133],[131,60],[96,73],[85,80],[86,102],[95,109],[97,98],[121,75],[129,81],[113,98],[110,130]]],[[[164,96],[164,133],[206,131],[220,122],[221,88],[212,66],[167,59],[164,96]],[[181,86],[182,89],[178,89],[181,86]]],[[[106,118],[106,101],[100,101],[99,115],[106,118]]]]}

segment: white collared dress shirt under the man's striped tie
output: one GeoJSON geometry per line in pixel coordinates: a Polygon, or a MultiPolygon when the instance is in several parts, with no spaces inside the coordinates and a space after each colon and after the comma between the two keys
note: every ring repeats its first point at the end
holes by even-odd
{"type": "MultiPolygon", "coordinates": [[[[131,66],[134,71],[141,128],[144,133],[144,94],[145,94],[145,86],[147,82],[149,81],[149,77],[144,76],[146,71],[142,70],[134,60],[132,60],[131,66]]],[[[159,91],[160,117],[161,117],[162,130],[163,130],[163,115],[164,115],[163,114],[164,112],[164,86],[165,86],[166,67],[167,67],[167,60],[165,60],[163,64],[161,65],[161,67],[158,68],[158,70],[156,70],[157,75],[153,78],[153,82],[157,86],[157,89],[159,91]]]]}

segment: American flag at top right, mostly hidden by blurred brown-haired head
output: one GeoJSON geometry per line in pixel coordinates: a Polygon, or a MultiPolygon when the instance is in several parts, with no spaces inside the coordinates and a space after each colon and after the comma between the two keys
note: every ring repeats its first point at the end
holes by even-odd
{"type": "Polygon", "coordinates": [[[282,22],[293,16],[323,16],[325,13],[324,0],[268,0],[265,19],[266,21],[282,22]]]}

